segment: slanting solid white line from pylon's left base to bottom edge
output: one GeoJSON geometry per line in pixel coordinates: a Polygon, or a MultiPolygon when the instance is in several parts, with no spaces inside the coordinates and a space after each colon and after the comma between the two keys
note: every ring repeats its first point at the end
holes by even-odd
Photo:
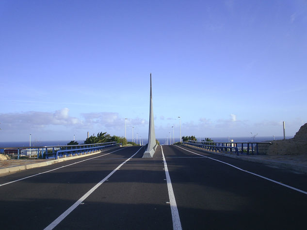
{"type": "MultiPolygon", "coordinates": [[[[138,153],[143,146],[136,152],[138,153]]],[[[115,171],[117,171],[120,167],[122,167],[127,161],[129,161],[136,153],[134,153],[132,156],[130,156],[127,160],[125,160],[123,163],[121,163],[119,166],[116,167],[112,172],[109,173],[108,176],[103,178],[100,182],[98,182],[94,187],[92,187],[87,193],[85,193],[78,201],[76,201],[72,206],[70,206],[62,215],[60,215],[58,218],[56,218],[51,224],[49,224],[44,230],[52,230],[55,228],[62,220],[65,219],[67,215],[69,215],[75,208],[78,207],[79,204],[83,202],[84,199],[86,199],[89,195],[91,195],[101,184],[103,184],[109,177],[113,175],[115,171]]]]}

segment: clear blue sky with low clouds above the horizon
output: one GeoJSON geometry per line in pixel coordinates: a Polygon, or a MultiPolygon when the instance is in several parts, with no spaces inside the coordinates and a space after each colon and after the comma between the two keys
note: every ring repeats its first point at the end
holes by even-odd
{"type": "Polygon", "coordinates": [[[0,141],[294,136],[307,1],[0,1],[0,141]]]}

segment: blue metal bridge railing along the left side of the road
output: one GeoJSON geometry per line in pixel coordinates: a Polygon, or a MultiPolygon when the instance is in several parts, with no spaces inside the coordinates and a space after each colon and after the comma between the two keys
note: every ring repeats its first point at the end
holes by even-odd
{"type": "Polygon", "coordinates": [[[1,147],[0,154],[6,154],[12,159],[48,159],[58,158],[65,155],[78,155],[85,153],[94,153],[106,148],[118,147],[122,143],[105,142],[97,144],[81,145],[57,145],[57,146],[28,146],[28,147],[1,147]]]}

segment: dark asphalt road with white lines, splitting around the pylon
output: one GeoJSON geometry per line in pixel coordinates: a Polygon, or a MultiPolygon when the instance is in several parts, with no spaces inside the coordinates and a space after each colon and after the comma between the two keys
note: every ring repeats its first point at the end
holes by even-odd
{"type": "Polygon", "coordinates": [[[306,229],[306,174],[175,146],[153,159],[144,151],[0,177],[1,229],[306,229]]]}

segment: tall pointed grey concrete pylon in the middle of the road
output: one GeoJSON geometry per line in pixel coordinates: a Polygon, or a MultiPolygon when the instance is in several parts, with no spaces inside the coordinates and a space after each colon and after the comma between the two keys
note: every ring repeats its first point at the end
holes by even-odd
{"type": "Polygon", "coordinates": [[[155,134],[155,124],[152,108],[152,90],[151,90],[151,73],[150,73],[150,106],[149,106],[149,132],[148,132],[148,146],[143,155],[143,158],[152,158],[153,154],[157,149],[156,144],[156,134],[155,134]]]}

